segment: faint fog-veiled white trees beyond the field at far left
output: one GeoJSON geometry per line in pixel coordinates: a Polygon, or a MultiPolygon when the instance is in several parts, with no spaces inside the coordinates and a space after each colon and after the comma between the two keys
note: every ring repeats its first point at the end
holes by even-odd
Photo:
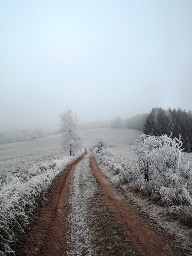
{"type": "Polygon", "coordinates": [[[10,142],[30,141],[45,137],[43,129],[15,130],[0,133],[0,144],[10,142]]]}

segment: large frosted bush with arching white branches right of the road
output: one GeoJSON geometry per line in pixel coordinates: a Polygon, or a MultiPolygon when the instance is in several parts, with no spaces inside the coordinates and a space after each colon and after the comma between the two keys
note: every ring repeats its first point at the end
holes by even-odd
{"type": "Polygon", "coordinates": [[[146,181],[158,180],[164,186],[174,187],[182,166],[181,147],[182,142],[177,138],[141,134],[133,144],[138,156],[134,167],[146,181]]]}

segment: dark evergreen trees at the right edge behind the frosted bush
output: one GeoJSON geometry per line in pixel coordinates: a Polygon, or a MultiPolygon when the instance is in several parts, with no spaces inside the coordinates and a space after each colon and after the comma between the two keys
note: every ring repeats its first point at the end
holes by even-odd
{"type": "Polygon", "coordinates": [[[169,108],[152,108],[144,123],[143,132],[148,135],[170,135],[181,140],[185,151],[192,152],[192,111],[169,108]]]}

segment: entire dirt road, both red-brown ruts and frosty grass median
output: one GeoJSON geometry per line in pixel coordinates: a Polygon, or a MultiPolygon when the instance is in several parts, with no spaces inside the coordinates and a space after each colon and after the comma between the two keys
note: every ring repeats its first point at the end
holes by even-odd
{"type": "Polygon", "coordinates": [[[54,182],[15,251],[16,256],[184,255],[107,180],[89,149],[54,182]]]}

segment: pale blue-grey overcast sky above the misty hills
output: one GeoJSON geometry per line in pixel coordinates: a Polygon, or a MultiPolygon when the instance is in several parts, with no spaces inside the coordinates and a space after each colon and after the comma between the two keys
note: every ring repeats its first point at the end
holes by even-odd
{"type": "Polygon", "coordinates": [[[192,109],[192,0],[1,0],[0,132],[192,109]]]}

